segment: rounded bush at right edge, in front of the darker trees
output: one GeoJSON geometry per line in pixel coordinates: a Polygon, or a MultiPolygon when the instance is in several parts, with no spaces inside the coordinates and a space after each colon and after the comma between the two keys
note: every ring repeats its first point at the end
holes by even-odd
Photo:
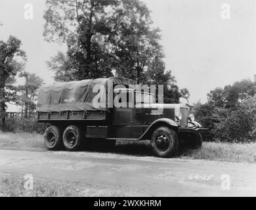
{"type": "Polygon", "coordinates": [[[256,97],[251,97],[230,112],[217,125],[215,137],[223,142],[256,141],[256,97]]]}

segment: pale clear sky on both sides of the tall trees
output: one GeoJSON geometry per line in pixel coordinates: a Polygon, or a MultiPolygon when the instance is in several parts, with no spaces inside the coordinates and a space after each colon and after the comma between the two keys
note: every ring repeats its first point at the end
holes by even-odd
{"type": "MultiPolygon", "coordinates": [[[[175,75],[180,88],[190,91],[190,104],[206,102],[207,93],[216,87],[253,79],[255,0],[142,1],[152,11],[154,27],[161,30],[166,69],[175,75]]],[[[45,0],[0,0],[0,39],[6,41],[9,35],[21,39],[28,72],[52,83],[53,72],[45,62],[66,47],[44,41],[44,9],[45,0]],[[32,20],[24,18],[28,3],[33,5],[32,20]]]]}

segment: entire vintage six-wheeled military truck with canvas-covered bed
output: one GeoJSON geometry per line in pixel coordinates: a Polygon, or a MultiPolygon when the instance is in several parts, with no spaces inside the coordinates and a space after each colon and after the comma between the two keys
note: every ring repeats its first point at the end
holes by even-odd
{"type": "Polygon", "coordinates": [[[151,140],[156,156],[175,155],[181,145],[202,146],[207,131],[183,104],[156,104],[155,96],[123,77],[87,79],[43,85],[37,100],[37,121],[49,123],[49,150],[78,150],[81,144],[104,140],[151,140]]]}

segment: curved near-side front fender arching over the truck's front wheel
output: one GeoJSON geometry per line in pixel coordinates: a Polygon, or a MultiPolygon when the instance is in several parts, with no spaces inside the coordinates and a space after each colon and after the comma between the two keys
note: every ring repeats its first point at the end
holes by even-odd
{"type": "Polygon", "coordinates": [[[179,124],[176,123],[173,119],[169,119],[169,118],[161,118],[161,119],[157,119],[156,121],[154,121],[150,127],[148,127],[148,129],[146,129],[146,131],[143,133],[143,135],[139,138],[139,140],[146,140],[148,139],[148,137],[151,138],[152,133],[154,132],[154,130],[157,127],[160,126],[167,126],[167,127],[174,127],[177,128],[179,127],[179,124]]]}

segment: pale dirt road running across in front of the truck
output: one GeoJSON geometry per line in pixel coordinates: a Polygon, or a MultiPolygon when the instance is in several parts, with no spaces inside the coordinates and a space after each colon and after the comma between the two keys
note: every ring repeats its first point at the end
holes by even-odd
{"type": "Polygon", "coordinates": [[[256,164],[93,152],[0,150],[0,174],[125,189],[142,196],[256,196],[256,164]]]}

